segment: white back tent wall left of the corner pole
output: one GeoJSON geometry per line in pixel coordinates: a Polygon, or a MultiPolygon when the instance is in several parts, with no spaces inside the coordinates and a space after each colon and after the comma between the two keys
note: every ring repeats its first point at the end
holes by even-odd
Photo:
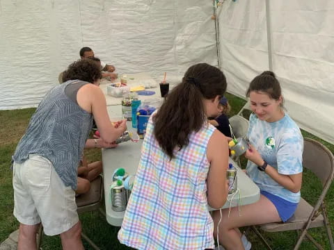
{"type": "Polygon", "coordinates": [[[0,110],[38,105],[81,47],[117,72],[180,80],[217,65],[212,1],[0,0],[0,110]]]}

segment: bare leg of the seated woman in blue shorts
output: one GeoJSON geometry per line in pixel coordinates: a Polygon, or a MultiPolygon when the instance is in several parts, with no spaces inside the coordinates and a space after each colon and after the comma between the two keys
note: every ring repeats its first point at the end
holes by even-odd
{"type": "MultiPolygon", "coordinates": [[[[281,221],[273,203],[262,194],[256,203],[241,206],[240,216],[237,207],[231,208],[230,217],[228,217],[228,209],[223,209],[222,215],[218,237],[219,244],[227,250],[244,250],[239,227],[281,221]]],[[[216,236],[216,226],[221,217],[219,210],[214,211],[212,217],[214,236],[216,236]]]]}

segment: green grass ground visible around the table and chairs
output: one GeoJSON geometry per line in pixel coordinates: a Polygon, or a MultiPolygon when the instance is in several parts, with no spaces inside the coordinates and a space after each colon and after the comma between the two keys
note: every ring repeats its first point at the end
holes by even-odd
{"type": "MultiPolygon", "coordinates": [[[[232,110],[230,116],[235,115],[246,103],[243,99],[232,96],[232,94],[226,94],[232,110]]],[[[34,108],[24,110],[4,110],[0,111],[0,242],[6,240],[8,235],[15,231],[19,224],[15,217],[13,217],[13,187],[12,187],[12,172],[10,171],[10,158],[15,151],[15,147],[19,138],[24,134],[26,126],[29,122],[31,115],[34,112],[34,108]]],[[[319,140],[314,135],[302,131],[304,137],[313,138],[319,140]]],[[[334,152],[334,145],[319,140],[334,152]]],[[[98,149],[90,149],[86,151],[89,161],[95,161],[101,159],[101,152],[98,149]]],[[[243,160],[245,164],[245,160],[243,160]]],[[[302,197],[307,197],[308,201],[312,204],[315,203],[317,196],[321,192],[321,184],[315,178],[313,178],[310,172],[305,171],[303,174],[303,187],[301,190],[302,197]]],[[[332,231],[334,232],[334,187],[328,191],[326,197],[326,206],[328,210],[328,216],[331,223],[332,231]]],[[[117,240],[118,227],[111,226],[106,222],[106,219],[100,215],[100,213],[86,213],[80,215],[80,219],[83,225],[83,231],[88,237],[97,244],[101,249],[130,249],[120,244],[117,240]]],[[[310,233],[321,242],[324,249],[330,249],[326,232],[324,228],[311,229],[310,233]]],[[[264,233],[264,237],[269,239],[273,249],[293,249],[294,242],[297,239],[297,235],[294,231],[286,233],[264,233]]],[[[248,236],[253,244],[252,249],[264,249],[264,245],[258,240],[256,235],[250,233],[248,236]]],[[[88,244],[84,241],[86,249],[90,249],[88,244]]],[[[45,250],[61,249],[61,240],[58,236],[47,237],[43,239],[42,247],[45,250]]],[[[315,249],[313,245],[304,241],[301,245],[301,249],[315,249]]]]}

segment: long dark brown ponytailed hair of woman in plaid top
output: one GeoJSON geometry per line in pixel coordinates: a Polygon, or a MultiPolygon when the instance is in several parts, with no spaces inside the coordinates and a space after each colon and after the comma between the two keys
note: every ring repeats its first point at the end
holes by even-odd
{"type": "Polygon", "coordinates": [[[153,117],[154,136],[170,159],[176,147],[189,144],[189,135],[199,131],[206,121],[203,99],[223,96],[226,78],[220,69],[199,63],[189,67],[153,117]]]}

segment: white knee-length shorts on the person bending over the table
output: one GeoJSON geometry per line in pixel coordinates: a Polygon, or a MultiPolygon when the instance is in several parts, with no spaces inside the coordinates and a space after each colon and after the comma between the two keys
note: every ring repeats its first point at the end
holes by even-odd
{"type": "Polygon", "coordinates": [[[13,165],[14,216],[26,225],[42,222],[46,235],[58,235],[79,222],[75,192],[65,187],[52,163],[35,154],[13,165]]]}

